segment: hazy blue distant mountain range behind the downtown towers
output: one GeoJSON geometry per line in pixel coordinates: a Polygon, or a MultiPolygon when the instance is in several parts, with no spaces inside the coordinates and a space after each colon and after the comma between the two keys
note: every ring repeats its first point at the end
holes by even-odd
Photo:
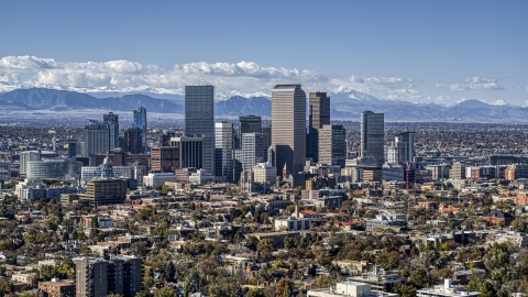
{"type": "MultiPolygon", "coordinates": [[[[508,105],[494,106],[476,99],[444,106],[384,100],[356,90],[329,95],[331,97],[332,120],[358,120],[363,110],[372,110],[385,113],[385,119],[393,121],[528,122],[528,108],[508,105]]],[[[147,112],[183,114],[184,97],[175,95],[172,99],[158,99],[147,95],[125,95],[122,97],[97,98],[82,92],[46,88],[16,89],[0,94],[0,110],[68,112],[106,109],[130,112],[139,107],[146,108],[147,112]]],[[[217,117],[245,114],[270,117],[271,110],[270,97],[245,98],[233,96],[226,100],[217,100],[215,103],[215,114],[217,117]]]]}

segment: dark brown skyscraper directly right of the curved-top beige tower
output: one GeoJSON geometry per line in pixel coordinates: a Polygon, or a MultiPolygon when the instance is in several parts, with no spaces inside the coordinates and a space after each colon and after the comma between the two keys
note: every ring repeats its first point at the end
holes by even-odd
{"type": "Polygon", "coordinates": [[[319,129],[330,124],[330,97],[326,92],[310,92],[307,156],[319,162],[319,129]]]}

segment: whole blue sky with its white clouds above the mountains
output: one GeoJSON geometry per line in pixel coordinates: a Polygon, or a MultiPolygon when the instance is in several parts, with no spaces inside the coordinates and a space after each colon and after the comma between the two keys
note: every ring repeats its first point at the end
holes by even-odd
{"type": "Polygon", "coordinates": [[[528,1],[3,1],[0,90],[528,100],[528,1]]]}

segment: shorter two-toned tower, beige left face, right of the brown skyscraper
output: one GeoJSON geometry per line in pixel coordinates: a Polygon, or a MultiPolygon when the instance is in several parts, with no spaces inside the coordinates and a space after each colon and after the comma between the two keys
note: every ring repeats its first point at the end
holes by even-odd
{"type": "Polygon", "coordinates": [[[344,167],[345,161],[346,130],[342,125],[323,125],[319,129],[319,163],[344,167]]]}

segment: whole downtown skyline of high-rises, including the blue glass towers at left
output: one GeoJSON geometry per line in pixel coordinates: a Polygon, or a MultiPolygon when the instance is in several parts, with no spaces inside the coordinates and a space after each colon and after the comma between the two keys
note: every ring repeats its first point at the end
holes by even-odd
{"type": "MultiPolygon", "coordinates": [[[[345,166],[346,131],[330,123],[330,98],[326,92],[310,92],[307,100],[301,85],[276,85],[272,90],[271,118],[271,127],[262,127],[261,117],[240,117],[235,131],[232,122],[215,121],[213,86],[186,86],[184,132],[169,135],[150,150],[151,172],[174,173],[190,167],[202,169],[217,180],[237,183],[243,172],[265,164],[273,167],[275,178],[282,176],[290,179],[293,186],[304,187],[307,161],[337,169],[345,166]]],[[[107,154],[120,147],[145,154],[146,133],[144,108],[134,110],[133,125],[123,136],[119,136],[118,116],[109,112],[102,122],[90,121],[85,127],[82,153],[107,154]]],[[[385,162],[402,164],[394,160],[399,156],[411,161],[413,151],[411,143],[407,147],[384,146],[384,114],[362,112],[361,145],[353,162],[356,167],[378,168],[381,176],[385,162]]]]}

